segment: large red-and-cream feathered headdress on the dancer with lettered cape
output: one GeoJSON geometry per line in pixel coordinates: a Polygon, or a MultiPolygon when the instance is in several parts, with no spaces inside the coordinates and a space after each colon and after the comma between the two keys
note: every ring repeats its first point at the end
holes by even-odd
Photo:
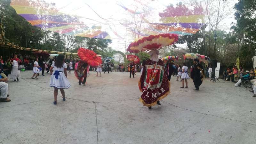
{"type": "Polygon", "coordinates": [[[128,46],[128,52],[144,52],[154,49],[159,49],[161,46],[167,46],[174,44],[178,41],[178,35],[176,34],[160,34],[160,35],[150,35],[148,37],[143,37],[142,39],[131,43],[128,46]]]}

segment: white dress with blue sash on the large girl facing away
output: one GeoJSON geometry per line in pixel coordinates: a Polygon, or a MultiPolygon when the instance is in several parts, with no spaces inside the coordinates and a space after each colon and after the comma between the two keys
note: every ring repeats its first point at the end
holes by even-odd
{"type": "Polygon", "coordinates": [[[70,82],[68,81],[68,78],[65,76],[64,74],[64,68],[67,68],[67,64],[63,63],[62,68],[57,68],[55,66],[55,63],[52,63],[52,67],[54,68],[54,71],[52,73],[51,76],[51,80],[50,80],[50,87],[55,87],[55,88],[63,88],[63,89],[67,89],[69,88],[70,82]]]}

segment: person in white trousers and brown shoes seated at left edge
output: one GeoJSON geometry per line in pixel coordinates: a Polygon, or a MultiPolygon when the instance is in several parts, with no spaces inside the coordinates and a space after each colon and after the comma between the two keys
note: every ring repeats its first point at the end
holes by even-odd
{"type": "Polygon", "coordinates": [[[2,78],[2,76],[0,76],[0,102],[9,102],[11,101],[9,98],[9,94],[8,93],[8,78],[2,78]]]}

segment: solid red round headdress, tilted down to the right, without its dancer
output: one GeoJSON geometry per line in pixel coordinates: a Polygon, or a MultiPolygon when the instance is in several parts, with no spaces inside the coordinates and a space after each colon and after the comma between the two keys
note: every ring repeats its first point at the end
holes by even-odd
{"type": "Polygon", "coordinates": [[[100,55],[97,55],[95,52],[82,47],[78,49],[77,55],[83,62],[86,62],[92,67],[96,67],[102,63],[100,55]]]}

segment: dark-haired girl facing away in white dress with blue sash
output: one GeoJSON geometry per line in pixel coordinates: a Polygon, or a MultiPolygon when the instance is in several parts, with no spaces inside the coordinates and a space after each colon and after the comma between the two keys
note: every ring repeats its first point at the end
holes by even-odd
{"type": "Polygon", "coordinates": [[[59,54],[55,63],[52,63],[50,68],[51,72],[51,80],[50,87],[54,87],[54,101],[53,104],[57,104],[57,96],[58,90],[60,89],[63,101],[66,100],[64,89],[69,88],[71,85],[67,78],[67,64],[64,62],[65,56],[63,54],[59,54]],[[54,68],[54,72],[52,73],[52,69],[54,68]]]}

